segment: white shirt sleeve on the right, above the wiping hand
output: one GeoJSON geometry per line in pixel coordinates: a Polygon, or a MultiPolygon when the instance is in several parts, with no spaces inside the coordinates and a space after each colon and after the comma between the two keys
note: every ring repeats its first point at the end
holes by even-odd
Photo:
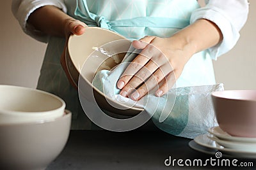
{"type": "Polygon", "coordinates": [[[212,59],[231,50],[239,39],[239,31],[245,24],[249,5],[247,0],[209,0],[205,6],[193,11],[190,22],[200,18],[214,22],[223,34],[223,40],[216,46],[209,48],[212,59]]]}

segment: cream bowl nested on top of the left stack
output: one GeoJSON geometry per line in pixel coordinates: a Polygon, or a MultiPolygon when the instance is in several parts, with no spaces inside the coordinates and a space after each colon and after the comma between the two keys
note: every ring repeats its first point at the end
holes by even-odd
{"type": "Polygon", "coordinates": [[[0,125],[54,120],[64,110],[65,102],[48,92],[0,85],[0,125]]]}

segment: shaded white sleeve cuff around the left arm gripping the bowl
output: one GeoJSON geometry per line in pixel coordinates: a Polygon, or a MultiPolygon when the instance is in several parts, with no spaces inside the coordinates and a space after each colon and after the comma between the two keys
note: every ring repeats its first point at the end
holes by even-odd
{"type": "Polygon", "coordinates": [[[43,32],[36,30],[32,25],[27,24],[28,17],[37,8],[45,5],[52,5],[60,8],[67,13],[67,8],[63,0],[13,0],[12,13],[19,21],[22,30],[29,36],[38,41],[47,42],[48,36],[43,32]]]}

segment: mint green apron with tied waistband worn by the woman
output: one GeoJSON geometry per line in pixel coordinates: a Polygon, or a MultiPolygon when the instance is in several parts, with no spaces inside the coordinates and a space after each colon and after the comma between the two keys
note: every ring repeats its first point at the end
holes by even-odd
{"type": "MultiPolygon", "coordinates": [[[[129,39],[144,36],[172,36],[189,25],[192,11],[199,8],[196,0],[77,0],[65,1],[68,15],[88,26],[98,26],[122,34],[129,39]]],[[[76,89],[70,85],[60,65],[65,39],[49,40],[38,89],[56,94],[72,111],[72,129],[94,129],[79,103],[76,89]]],[[[215,83],[209,53],[196,53],[177,80],[177,87],[215,83]]]]}

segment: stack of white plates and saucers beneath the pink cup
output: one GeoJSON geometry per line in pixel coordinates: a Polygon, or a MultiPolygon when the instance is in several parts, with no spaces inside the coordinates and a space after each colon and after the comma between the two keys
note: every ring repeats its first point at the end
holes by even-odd
{"type": "Polygon", "coordinates": [[[208,132],[190,141],[189,146],[200,152],[210,154],[220,151],[231,157],[256,157],[256,138],[230,136],[220,127],[212,127],[208,132]]]}

